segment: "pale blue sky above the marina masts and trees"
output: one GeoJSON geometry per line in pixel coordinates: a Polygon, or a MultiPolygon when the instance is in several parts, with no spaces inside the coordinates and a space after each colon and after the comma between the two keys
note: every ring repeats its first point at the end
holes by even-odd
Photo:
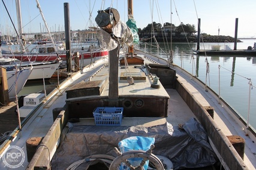
{"type": "MultiPolygon", "coordinates": [[[[15,0],[3,0],[17,29],[15,0]]],[[[97,26],[95,17],[98,10],[108,7],[119,11],[121,20],[126,22],[127,0],[38,0],[44,18],[51,32],[64,31],[64,3],[70,7],[71,30],[85,30],[97,26]],[[91,17],[89,13],[92,13],[91,17]],[[91,21],[90,21],[91,18],[91,21]]],[[[20,0],[24,33],[47,32],[44,21],[37,8],[36,0],[20,0]]],[[[256,38],[256,1],[255,0],[134,0],[134,19],[137,27],[143,29],[155,21],[162,25],[166,22],[175,26],[194,24],[198,29],[201,20],[201,33],[209,35],[235,35],[238,18],[238,38],[256,38]],[[172,14],[171,14],[172,13],[172,14]]],[[[0,31],[2,35],[13,35],[14,27],[8,17],[4,4],[0,2],[0,31]]]]}

